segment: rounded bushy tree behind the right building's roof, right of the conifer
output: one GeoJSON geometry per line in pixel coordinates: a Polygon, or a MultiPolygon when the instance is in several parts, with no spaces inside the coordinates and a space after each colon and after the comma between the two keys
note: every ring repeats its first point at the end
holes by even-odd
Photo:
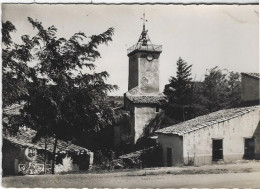
{"type": "Polygon", "coordinates": [[[237,107],[241,95],[240,74],[224,71],[218,67],[209,69],[201,90],[197,102],[208,112],[237,107]]]}

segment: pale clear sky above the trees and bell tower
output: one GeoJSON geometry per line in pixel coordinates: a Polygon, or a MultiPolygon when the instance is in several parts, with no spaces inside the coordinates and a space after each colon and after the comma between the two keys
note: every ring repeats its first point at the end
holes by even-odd
{"type": "Polygon", "coordinates": [[[143,13],[152,43],[162,45],[160,91],[176,75],[179,57],[192,64],[192,78],[202,81],[207,69],[218,66],[234,72],[259,72],[258,5],[84,5],[2,4],[2,21],[11,21],[21,35],[35,34],[27,17],[44,27],[54,25],[58,37],[76,32],[87,36],[115,29],[113,41],[101,45],[96,72],[107,71],[107,82],[119,86],[110,95],[128,89],[127,49],[137,43],[143,13]]]}

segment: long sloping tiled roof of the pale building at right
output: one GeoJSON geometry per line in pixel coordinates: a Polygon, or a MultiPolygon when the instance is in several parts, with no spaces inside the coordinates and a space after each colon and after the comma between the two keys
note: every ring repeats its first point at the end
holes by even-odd
{"type": "Polygon", "coordinates": [[[160,134],[170,134],[183,136],[186,133],[196,131],[198,129],[214,125],[216,123],[224,122],[235,117],[244,115],[248,112],[259,109],[260,106],[243,107],[243,108],[233,108],[227,110],[220,110],[207,115],[199,116],[194,119],[172,125],[163,129],[155,131],[160,134]]]}

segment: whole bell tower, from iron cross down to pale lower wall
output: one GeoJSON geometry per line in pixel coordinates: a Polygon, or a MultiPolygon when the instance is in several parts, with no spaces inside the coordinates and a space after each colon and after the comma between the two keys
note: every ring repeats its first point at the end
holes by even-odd
{"type": "Polygon", "coordinates": [[[134,143],[143,135],[145,127],[160,111],[159,58],[162,45],[155,45],[148,36],[143,14],[143,30],[135,45],[127,50],[129,57],[128,91],[124,95],[125,108],[130,111],[129,123],[134,143]]]}

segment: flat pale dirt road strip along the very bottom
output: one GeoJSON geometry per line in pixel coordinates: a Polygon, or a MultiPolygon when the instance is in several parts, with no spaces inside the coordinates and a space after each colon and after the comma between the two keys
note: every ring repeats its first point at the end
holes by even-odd
{"type": "Polygon", "coordinates": [[[121,176],[115,174],[71,174],[4,177],[4,187],[210,187],[210,188],[257,188],[260,172],[121,176]]]}

